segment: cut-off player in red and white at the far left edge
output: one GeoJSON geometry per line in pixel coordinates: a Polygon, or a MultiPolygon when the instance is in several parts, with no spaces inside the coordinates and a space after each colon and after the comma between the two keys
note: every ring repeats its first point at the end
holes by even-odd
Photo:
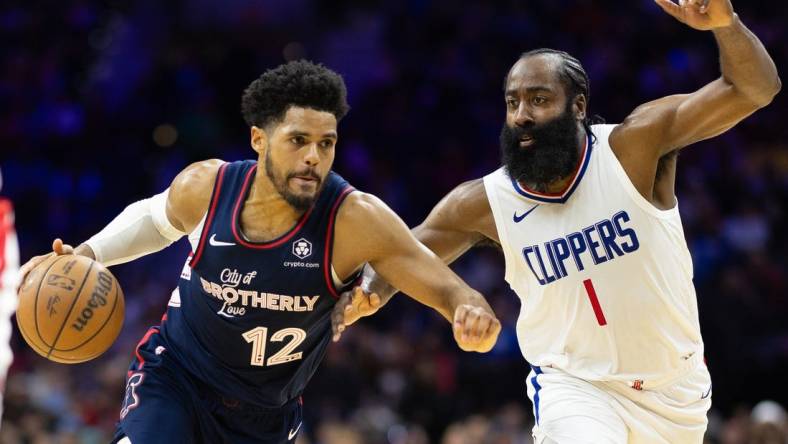
{"type": "MultiPolygon", "coordinates": [[[[3,176],[0,175],[0,189],[3,176]]],[[[0,196],[0,419],[8,367],[11,366],[11,316],[16,310],[16,279],[19,272],[19,246],[14,231],[11,201],[0,196]]]]}

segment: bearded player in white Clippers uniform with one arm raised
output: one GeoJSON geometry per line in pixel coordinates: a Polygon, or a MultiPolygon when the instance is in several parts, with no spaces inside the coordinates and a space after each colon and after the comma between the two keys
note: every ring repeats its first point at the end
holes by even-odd
{"type": "MultiPolygon", "coordinates": [[[[729,0],[656,0],[714,34],[722,75],[691,94],[592,125],[580,63],[523,54],[505,84],[503,167],[449,193],[418,239],[446,262],[487,239],[522,303],[517,334],[536,443],[700,443],[710,407],[674,181],[679,149],[714,137],[771,102],[775,65],[729,0]]],[[[391,296],[373,272],[345,295],[346,325],[391,296]]]]}

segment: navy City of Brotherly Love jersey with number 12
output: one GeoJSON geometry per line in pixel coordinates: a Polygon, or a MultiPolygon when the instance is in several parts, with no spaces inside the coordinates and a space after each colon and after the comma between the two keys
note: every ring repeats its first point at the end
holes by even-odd
{"type": "MultiPolygon", "coordinates": [[[[200,241],[161,334],[191,374],[229,398],[280,407],[323,359],[341,289],[332,279],[334,220],[354,189],[331,172],[314,205],[270,242],[250,242],[240,213],[257,163],[219,169],[200,241]]],[[[261,173],[263,174],[263,173],[261,173]]]]}

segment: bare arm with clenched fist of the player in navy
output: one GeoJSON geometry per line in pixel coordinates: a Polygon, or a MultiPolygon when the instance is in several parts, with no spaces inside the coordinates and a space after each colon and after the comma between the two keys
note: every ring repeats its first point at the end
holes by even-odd
{"type": "Polygon", "coordinates": [[[419,243],[378,198],[351,194],[337,216],[335,236],[344,251],[359,252],[347,259],[335,255],[337,269],[368,262],[394,287],[452,322],[455,339],[463,350],[485,352],[495,345],[500,322],[484,297],[419,243]],[[338,263],[341,260],[347,264],[338,263]]]}

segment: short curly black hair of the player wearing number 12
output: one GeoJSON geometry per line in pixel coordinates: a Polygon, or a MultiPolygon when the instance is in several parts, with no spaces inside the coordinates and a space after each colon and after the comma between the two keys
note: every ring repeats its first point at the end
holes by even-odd
{"type": "Polygon", "coordinates": [[[322,64],[298,60],[264,72],[241,97],[241,113],[250,127],[280,122],[291,106],[326,111],[339,122],[350,110],[345,81],[322,64]]]}

